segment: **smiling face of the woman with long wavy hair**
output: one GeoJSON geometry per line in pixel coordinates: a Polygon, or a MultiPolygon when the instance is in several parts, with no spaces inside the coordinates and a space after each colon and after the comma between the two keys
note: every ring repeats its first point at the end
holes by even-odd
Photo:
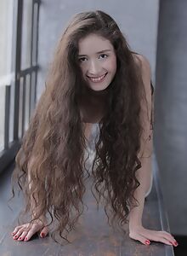
{"type": "Polygon", "coordinates": [[[116,73],[116,53],[111,42],[96,34],[78,44],[78,61],[83,78],[92,90],[105,90],[116,73]]]}

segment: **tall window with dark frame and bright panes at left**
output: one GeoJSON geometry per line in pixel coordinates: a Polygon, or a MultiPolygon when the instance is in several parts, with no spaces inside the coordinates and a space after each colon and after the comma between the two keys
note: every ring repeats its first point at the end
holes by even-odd
{"type": "Polygon", "coordinates": [[[39,6],[0,2],[0,172],[14,160],[36,104],[39,6]]]}

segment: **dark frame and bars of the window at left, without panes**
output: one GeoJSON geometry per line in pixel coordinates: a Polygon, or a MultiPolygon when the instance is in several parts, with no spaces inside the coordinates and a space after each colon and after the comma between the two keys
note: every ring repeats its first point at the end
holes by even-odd
{"type": "MultiPolygon", "coordinates": [[[[25,0],[26,1],[26,0],[25,0]]],[[[12,47],[13,59],[11,60],[14,79],[10,84],[5,84],[5,118],[4,118],[4,148],[0,152],[0,173],[12,163],[20,149],[21,139],[26,131],[26,104],[28,109],[28,117],[31,118],[31,113],[35,108],[37,101],[37,52],[38,52],[38,26],[39,26],[39,9],[41,0],[32,0],[31,4],[31,62],[30,67],[21,69],[21,42],[22,42],[22,24],[23,24],[23,5],[24,0],[14,1],[14,17],[13,17],[13,40],[12,47]],[[37,12],[37,13],[36,13],[37,12]],[[34,26],[35,25],[35,26],[34,26]],[[34,42],[35,38],[35,42],[34,42]],[[33,49],[35,49],[35,56],[33,63],[33,49]],[[29,79],[26,79],[29,76],[29,79]],[[29,81],[29,84],[27,83],[29,81]],[[22,83],[22,96],[20,96],[20,83],[22,83]],[[27,83],[27,84],[26,84],[27,83]],[[26,102],[26,87],[29,88],[29,101],[26,102]],[[12,90],[14,89],[14,90],[12,90]],[[13,141],[9,141],[9,121],[10,121],[10,100],[11,93],[14,99],[13,111],[13,141]],[[22,101],[22,112],[20,113],[20,101],[22,101]],[[21,124],[19,119],[21,115],[21,124]]]]}

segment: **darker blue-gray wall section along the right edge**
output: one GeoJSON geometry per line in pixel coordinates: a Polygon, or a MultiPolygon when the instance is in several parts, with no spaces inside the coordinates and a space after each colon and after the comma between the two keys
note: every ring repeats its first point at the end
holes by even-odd
{"type": "Polygon", "coordinates": [[[187,236],[187,1],[161,0],[155,147],[169,223],[187,236]]]}

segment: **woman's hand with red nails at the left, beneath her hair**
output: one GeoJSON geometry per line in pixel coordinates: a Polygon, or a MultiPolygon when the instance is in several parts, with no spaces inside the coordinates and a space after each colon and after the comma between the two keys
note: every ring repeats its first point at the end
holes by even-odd
{"type": "Polygon", "coordinates": [[[29,241],[31,236],[40,231],[40,236],[43,238],[48,235],[48,228],[44,226],[40,219],[36,219],[31,224],[22,224],[17,226],[13,233],[13,239],[17,241],[29,241]],[[41,231],[40,231],[41,230],[41,231]]]}

